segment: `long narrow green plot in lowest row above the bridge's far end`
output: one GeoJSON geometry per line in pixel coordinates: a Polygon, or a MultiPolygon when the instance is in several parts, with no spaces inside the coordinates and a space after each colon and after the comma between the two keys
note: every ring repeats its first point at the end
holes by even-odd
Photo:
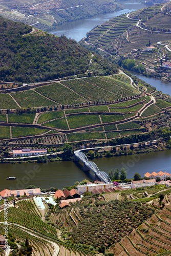
{"type": "Polygon", "coordinates": [[[104,133],[71,133],[67,134],[68,141],[105,139],[104,133]]]}

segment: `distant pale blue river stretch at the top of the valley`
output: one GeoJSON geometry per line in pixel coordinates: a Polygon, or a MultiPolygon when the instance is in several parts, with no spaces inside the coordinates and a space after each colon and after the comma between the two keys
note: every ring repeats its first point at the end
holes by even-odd
{"type": "Polygon", "coordinates": [[[56,36],[65,35],[68,38],[70,37],[72,39],[75,39],[76,41],[79,41],[86,36],[87,32],[92,30],[95,26],[104,23],[106,20],[109,20],[124,13],[132,12],[146,7],[145,5],[137,3],[134,0],[121,2],[121,4],[124,6],[123,10],[117,12],[97,14],[92,18],[68,22],[58,26],[57,28],[55,28],[54,31],[49,31],[49,33],[56,36]]]}

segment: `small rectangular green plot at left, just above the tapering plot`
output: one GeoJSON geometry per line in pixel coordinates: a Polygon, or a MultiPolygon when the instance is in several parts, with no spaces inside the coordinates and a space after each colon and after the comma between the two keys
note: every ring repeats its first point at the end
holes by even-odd
{"type": "Polygon", "coordinates": [[[9,123],[33,123],[35,114],[8,114],[9,123]]]}

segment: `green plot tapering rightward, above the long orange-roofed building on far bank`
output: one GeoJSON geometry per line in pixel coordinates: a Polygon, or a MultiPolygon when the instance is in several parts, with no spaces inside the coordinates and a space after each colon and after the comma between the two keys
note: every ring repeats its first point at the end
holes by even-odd
{"type": "Polygon", "coordinates": [[[47,129],[38,129],[34,127],[17,127],[12,126],[12,138],[37,135],[47,132],[47,129]]]}

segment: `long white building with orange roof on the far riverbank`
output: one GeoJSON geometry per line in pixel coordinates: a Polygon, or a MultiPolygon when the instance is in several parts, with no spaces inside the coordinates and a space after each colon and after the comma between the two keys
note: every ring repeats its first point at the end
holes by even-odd
{"type": "Polygon", "coordinates": [[[47,154],[47,150],[30,150],[26,148],[25,150],[12,150],[13,157],[25,157],[25,156],[39,156],[47,154]]]}

